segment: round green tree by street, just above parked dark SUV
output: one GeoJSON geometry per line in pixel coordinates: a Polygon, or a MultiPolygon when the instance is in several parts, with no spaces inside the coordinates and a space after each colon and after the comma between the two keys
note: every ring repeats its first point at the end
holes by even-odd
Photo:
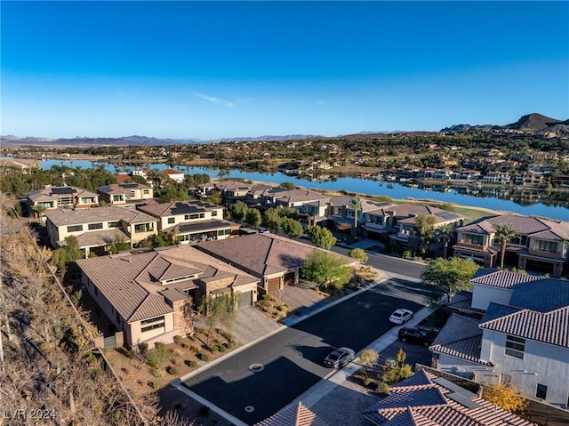
{"type": "Polygon", "coordinates": [[[429,262],[421,278],[423,284],[435,285],[437,290],[445,293],[448,303],[453,293],[470,288],[470,278],[477,269],[478,265],[471,259],[439,257],[429,262]]]}

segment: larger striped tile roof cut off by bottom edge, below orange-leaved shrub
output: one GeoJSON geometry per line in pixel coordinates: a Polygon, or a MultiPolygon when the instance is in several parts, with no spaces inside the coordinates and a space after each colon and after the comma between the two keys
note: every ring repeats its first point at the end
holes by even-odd
{"type": "Polygon", "coordinates": [[[453,400],[453,390],[433,382],[436,375],[415,374],[422,375],[421,385],[404,381],[391,387],[388,397],[364,411],[365,418],[380,426],[533,425],[477,396],[469,398],[471,408],[464,406],[453,400]]]}

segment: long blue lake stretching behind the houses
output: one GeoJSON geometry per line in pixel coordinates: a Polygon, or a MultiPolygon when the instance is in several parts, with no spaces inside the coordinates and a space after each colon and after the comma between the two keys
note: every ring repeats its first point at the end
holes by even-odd
{"type": "MultiPolygon", "coordinates": [[[[42,161],[42,169],[49,170],[52,165],[67,165],[68,167],[82,167],[84,169],[93,166],[105,165],[105,168],[111,173],[128,173],[135,168],[140,168],[134,165],[120,165],[116,166],[104,162],[92,162],[86,160],[46,160],[42,161]]],[[[164,170],[169,168],[165,164],[152,164],[147,165],[145,168],[156,170],[164,170]]],[[[209,169],[205,167],[184,167],[173,166],[173,169],[180,170],[186,174],[205,173],[212,179],[219,178],[219,169],[209,169]]],[[[382,181],[372,181],[366,179],[358,179],[355,177],[341,177],[333,181],[309,181],[301,179],[296,176],[290,176],[284,173],[260,173],[260,172],[243,172],[240,170],[230,170],[229,174],[225,174],[227,179],[247,179],[250,181],[265,181],[265,182],[292,182],[307,189],[327,189],[327,190],[346,190],[349,192],[357,192],[371,196],[387,196],[394,199],[429,199],[436,200],[443,203],[454,203],[458,205],[472,205],[475,207],[485,207],[488,209],[512,212],[525,215],[537,215],[556,219],[559,221],[569,221],[569,208],[564,206],[544,205],[542,203],[535,203],[533,205],[520,205],[511,199],[500,199],[496,197],[475,197],[468,194],[459,193],[456,190],[449,192],[437,192],[434,190],[425,190],[420,188],[411,188],[393,182],[388,183],[382,181]]]]}

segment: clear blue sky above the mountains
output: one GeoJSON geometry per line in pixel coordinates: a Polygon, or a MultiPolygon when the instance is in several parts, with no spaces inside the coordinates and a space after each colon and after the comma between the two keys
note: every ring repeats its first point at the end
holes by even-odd
{"type": "Polygon", "coordinates": [[[0,2],[1,134],[215,139],[569,118],[569,2],[0,2]]]}

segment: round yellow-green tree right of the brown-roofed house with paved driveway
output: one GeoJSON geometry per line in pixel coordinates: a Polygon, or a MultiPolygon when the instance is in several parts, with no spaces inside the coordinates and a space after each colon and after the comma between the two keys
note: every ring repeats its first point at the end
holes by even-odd
{"type": "Polygon", "coordinates": [[[340,289],[349,283],[352,270],[348,262],[339,256],[321,250],[314,250],[304,261],[301,268],[301,276],[309,281],[314,281],[325,289],[329,285],[340,289]]]}

